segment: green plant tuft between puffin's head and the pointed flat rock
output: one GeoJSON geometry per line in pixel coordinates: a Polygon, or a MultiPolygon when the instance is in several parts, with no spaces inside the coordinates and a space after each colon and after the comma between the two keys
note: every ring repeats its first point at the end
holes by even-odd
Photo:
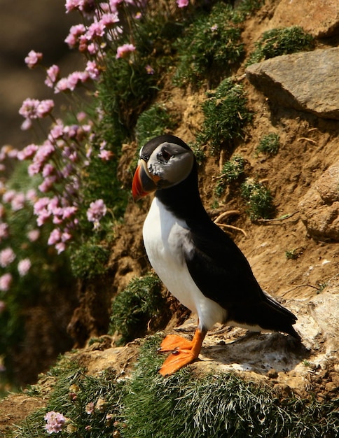
{"type": "Polygon", "coordinates": [[[242,85],[231,78],[223,80],[214,92],[209,92],[202,104],[205,120],[198,142],[209,142],[214,150],[230,146],[244,137],[244,127],[252,120],[242,85]]]}

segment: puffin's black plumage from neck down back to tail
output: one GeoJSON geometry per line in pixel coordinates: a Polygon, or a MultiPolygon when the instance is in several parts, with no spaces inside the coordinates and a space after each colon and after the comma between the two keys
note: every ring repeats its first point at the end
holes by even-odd
{"type": "Polygon", "coordinates": [[[194,247],[185,255],[188,271],[205,297],[227,310],[225,323],[259,326],[300,339],[292,327],[296,316],[263,292],[240,248],[209,218],[200,199],[196,162],[186,180],[157,190],[155,197],[186,220],[194,247]]]}

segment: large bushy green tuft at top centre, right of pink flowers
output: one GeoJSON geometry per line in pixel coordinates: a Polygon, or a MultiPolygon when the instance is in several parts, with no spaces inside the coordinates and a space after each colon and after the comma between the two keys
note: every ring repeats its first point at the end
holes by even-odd
{"type": "Polygon", "coordinates": [[[174,81],[179,85],[199,85],[207,79],[209,85],[219,83],[222,76],[244,55],[241,41],[242,17],[223,2],[216,3],[209,15],[202,13],[179,38],[179,65],[174,81]]]}

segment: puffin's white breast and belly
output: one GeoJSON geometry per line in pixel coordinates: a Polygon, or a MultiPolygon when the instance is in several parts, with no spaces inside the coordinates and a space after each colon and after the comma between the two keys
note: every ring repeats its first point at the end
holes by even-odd
{"type": "Polygon", "coordinates": [[[178,220],[153,199],[144,222],[144,245],[148,260],[168,290],[184,306],[198,314],[200,326],[209,330],[217,322],[226,320],[226,310],[205,297],[188,272],[184,249],[192,246],[184,220],[178,220]]]}

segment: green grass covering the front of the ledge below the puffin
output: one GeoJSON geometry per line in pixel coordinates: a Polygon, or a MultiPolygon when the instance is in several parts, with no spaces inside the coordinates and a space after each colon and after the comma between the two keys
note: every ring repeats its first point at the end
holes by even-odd
{"type": "Polygon", "coordinates": [[[338,436],[338,399],[318,402],[312,396],[286,398],[269,386],[235,374],[196,376],[191,367],[164,379],[158,374],[164,359],[157,353],[160,340],[155,335],[144,341],[129,379],[118,378],[109,369],[99,376],[88,376],[75,361],[61,360],[51,373],[55,384],[48,407],[27,417],[16,436],[48,436],[43,430],[43,416],[52,409],[68,418],[59,437],[338,436]],[[91,414],[87,413],[89,404],[91,414]]]}

